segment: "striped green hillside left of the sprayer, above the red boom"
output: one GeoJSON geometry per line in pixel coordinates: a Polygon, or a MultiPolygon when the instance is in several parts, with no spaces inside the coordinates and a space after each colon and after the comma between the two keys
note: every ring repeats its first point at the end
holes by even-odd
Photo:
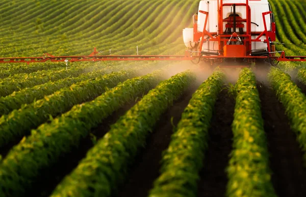
{"type": "Polygon", "coordinates": [[[2,1],[2,57],[88,55],[93,47],[113,54],[172,54],[184,49],[198,1],[87,0],[2,1]]]}

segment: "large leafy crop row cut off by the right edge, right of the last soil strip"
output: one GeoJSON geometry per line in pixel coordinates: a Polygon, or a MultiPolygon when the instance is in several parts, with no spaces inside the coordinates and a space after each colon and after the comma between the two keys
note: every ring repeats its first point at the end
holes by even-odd
{"type": "MultiPolygon", "coordinates": [[[[302,69],[302,72],[304,72],[304,69],[302,69]]],[[[300,75],[302,72],[300,72],[300,75]]],[[[271,68],[268,79],[278,100],[283,103],[286,109],[291,128],[297,136],[297,141],[304,152],[303,158],[306,160],[306,96],[291,81],[291,77],[278,68],[271,68]]]]}

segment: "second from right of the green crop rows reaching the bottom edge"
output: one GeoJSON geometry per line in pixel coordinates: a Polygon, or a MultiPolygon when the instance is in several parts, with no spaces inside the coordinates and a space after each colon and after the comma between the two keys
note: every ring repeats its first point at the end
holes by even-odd
{"type": "Polygon", "coordinates": [[[161,175],[149,196],[197,196],[198,173],[208,148],[208,130],[224,73],[215,71],[193,94],[163,153],[161,175]]]}

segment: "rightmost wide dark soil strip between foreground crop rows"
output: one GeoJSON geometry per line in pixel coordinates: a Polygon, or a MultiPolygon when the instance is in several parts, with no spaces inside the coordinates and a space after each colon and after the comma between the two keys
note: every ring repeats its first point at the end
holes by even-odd
{"type": "Polygon", "coordinates": [[[279,197],[305,196],[306,170],[303,167],[302,151],[291,130],[282,103],[273,90],[258,83],[262,117],[270,154],[272,183],[279,197]]]}

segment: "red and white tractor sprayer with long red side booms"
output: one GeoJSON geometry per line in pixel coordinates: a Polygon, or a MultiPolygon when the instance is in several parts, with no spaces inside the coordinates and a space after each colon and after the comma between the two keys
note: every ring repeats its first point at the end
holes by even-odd
{"type": "Polygon", "coordinates": [[[0,63],[189,60],[220,66],[249,66],[254,62],[306,61],[306,56],[286,56],[275,51],[275,21],[268,0],[200,1],[193,28],[183,30],[184,55],[99,55],[0,58],[0,63]],[[276,56],[276,54],[281,54],[276,56]]]}

